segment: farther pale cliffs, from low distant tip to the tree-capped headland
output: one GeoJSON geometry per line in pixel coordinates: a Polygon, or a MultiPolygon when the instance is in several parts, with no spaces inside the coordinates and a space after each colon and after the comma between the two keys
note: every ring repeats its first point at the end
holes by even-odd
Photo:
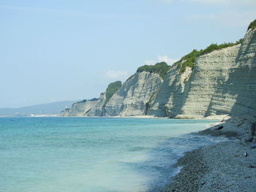
{"type": "Polygon", "coordinates": [[[78,102],[63,116],[135,116],[146,115],[147,104],[151,96],[162,84],[157,73],[136,72],[130,77],[110,100],[102,93],[95,101],[78,102]]]}

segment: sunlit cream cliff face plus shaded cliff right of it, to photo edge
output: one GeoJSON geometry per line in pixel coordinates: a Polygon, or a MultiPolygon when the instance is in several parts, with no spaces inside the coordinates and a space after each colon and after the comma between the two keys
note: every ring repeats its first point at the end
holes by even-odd
{"type": "Polygon", "coordinates": [[[250,30],[241,46],[200,56],[189,94],[177,118],[252,115],[256,110],[255,53],[256,30],[250,30]]]}

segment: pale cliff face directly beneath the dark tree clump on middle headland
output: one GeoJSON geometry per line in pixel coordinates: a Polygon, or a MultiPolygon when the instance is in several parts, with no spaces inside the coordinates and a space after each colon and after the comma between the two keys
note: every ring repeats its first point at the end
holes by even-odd
{"type": "Polygon", "coordinates": [[[146,115],[151,96],[162,84],[157,73],[136,72],[105,105],[105,116],[146,115]]]}

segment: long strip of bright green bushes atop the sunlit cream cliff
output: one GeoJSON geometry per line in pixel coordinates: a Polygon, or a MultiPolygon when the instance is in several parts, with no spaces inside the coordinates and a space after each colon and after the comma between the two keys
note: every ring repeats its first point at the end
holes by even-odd
{"type": "Polygon", "coordinates": [[[214,50],[221,50],[226,47],[232,47],[234,45],[238,45],[241,43],[243,39],[240,39],[237,42],[228,42],[228,43],[223,43],[220,45],[217,44],[211,44],[206,49],[204,50],[192,50],[191,53],[185,55],[184,57],[181,58],[181,60],[177,61],[174,65],[177,65],[178,68],[180,69],[180,73],[184,73],[187,66],[191,67],[192,69],[194,68],[195,60],[200,56],[204,55],[206,53],[211,53],[214,50]]]}

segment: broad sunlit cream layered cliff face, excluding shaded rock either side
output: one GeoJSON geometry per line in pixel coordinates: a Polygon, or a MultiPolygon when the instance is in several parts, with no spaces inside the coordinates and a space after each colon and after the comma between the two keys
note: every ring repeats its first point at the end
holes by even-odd
{"type": "Polygon", "coordinates": [[[237,67],[236,57],[240,45],[215,50],[201,55],[188,82],[184,106],[176,118],[200,118],[208,115],[230,113],[236,97],[225,94],[230,85],[224,87],[230,71],[237,67]],[[217,101],[218,104],[217,104],[217,101]]]}

